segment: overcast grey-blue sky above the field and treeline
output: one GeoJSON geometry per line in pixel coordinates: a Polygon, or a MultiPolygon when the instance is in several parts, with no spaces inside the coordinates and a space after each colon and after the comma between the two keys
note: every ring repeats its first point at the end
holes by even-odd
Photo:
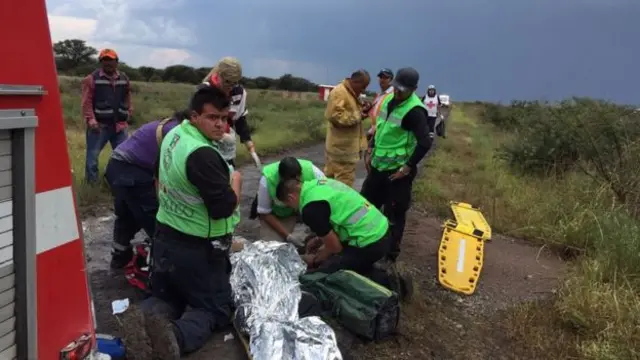
{"type": "MultiPolygon", "coordinates": [[[[292,73],[334,84],[413,66],[459,100],[592,96],[640,104],[640,0],[47,0],[54,41],[131,65],[292,73]]],[[[374,82],[370,90],[377,91],[374,82]]]]}

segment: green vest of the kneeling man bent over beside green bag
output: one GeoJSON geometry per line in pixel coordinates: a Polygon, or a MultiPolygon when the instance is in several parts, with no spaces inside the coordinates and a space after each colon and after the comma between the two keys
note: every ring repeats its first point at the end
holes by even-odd
{"type": "Polygon", "coordinates": [[[327,201],[329,221],[340,241],[353,247],[365,247],[382,239],[389,220],[352,187],[333,179],[302,183],[300,209],[312,201],[327,201]]]}

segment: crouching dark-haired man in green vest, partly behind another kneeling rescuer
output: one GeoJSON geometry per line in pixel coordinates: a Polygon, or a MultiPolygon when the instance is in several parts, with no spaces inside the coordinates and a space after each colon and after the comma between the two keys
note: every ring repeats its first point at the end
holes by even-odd
{"type": "Polygon", "coordinates": [[[252,205],[252,219],[260,218],[260,239],[284,239],[297,247],[303,246],[303,239],[293,234],[298,220],[296,211],[276,199],[276,188],[281,181],[297,179],[308,181],[324,178],[324,173],[309,160],[287,156],[269,164],[262,170],[258,194],[252,205]]]}

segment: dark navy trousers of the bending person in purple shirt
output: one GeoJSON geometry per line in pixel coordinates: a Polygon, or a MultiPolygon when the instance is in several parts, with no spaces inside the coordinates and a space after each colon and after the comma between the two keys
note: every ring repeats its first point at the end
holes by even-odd
{"type": "Polygon", "coordinates": [[[113,195],[116,220],[113,229],[113,247],[126,250],[131,240],[144,229],[153,237],[158,212],[158,196],[153,173],[134,164],[110,159],[105,178],[113,195]]]}

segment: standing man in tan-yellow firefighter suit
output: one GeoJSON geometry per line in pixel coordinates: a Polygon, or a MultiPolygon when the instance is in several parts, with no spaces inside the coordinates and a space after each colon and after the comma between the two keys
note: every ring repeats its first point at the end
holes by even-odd
{"type": "Polygon", "coordinates": [[[356,164],[366,149],[362,120],[371,106],[360,103],[360,94],[369,86],[369,73],[358,70],[329,94],[324,118],[329,122],[325,141],[324,173],[348,186],[356,180],[356,164]]]}

